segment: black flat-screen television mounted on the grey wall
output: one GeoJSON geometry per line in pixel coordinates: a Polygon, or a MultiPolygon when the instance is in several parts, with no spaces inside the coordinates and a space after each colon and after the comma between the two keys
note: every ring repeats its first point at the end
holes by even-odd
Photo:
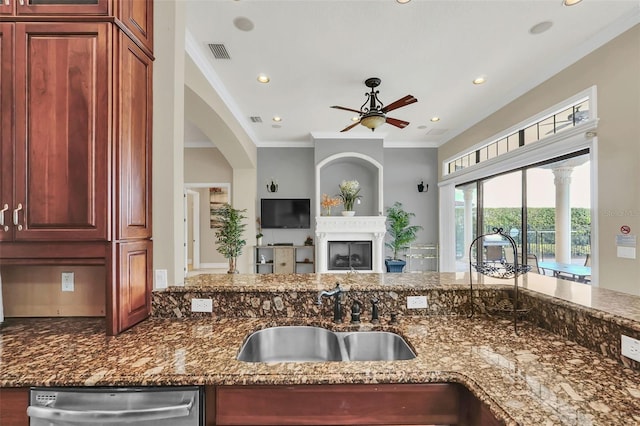
{"type": "Polygon", "coordinates": [[[260,220],[264,229],[311,228],[309,198],[263,198],[260,200],[260,220]]]}

